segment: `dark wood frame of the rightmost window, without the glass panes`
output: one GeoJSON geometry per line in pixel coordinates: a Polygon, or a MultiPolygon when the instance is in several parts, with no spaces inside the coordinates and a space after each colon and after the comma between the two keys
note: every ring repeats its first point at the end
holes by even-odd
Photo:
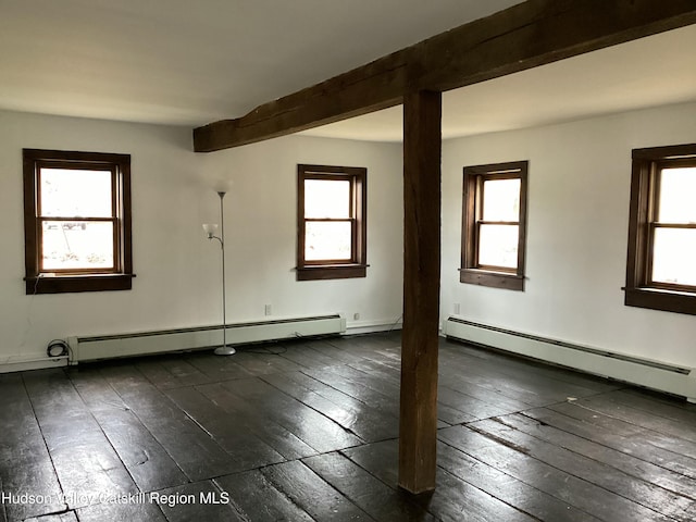
{"type": "Polygon", "coordinates": [[[651,281],[658,175],[666,166],[696,167],[696,144],[634,149],[632,160],[624,303],[696,315],[696,288],[651,281]]]}

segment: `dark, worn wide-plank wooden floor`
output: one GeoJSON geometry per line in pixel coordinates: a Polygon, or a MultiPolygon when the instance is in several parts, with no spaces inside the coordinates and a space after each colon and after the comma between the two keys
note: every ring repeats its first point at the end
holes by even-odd
{"type": "Polygon", "coordinates": [[[397,484],[399,333],[0,375],[0,522],[696,520],[696,406],[442,340],[397,484]]]}

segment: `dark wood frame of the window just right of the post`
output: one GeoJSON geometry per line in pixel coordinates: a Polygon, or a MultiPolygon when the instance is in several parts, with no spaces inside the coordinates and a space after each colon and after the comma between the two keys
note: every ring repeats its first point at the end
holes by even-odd
{"type": "MultiPolygon", "coordinates": [[[[527,161],[464,167],[461,268],[459,281],[474,285],[524,290],[524,250],[526,237],[527,161]],[[478,263],[478,228],[482,221],[481,192],[487,179],[520,179],[520,215],[517,222],[518,262],[515,269],[485,266],[478,263]]],[[[507,223],[498,223],[507,224],[507,223]]]]}

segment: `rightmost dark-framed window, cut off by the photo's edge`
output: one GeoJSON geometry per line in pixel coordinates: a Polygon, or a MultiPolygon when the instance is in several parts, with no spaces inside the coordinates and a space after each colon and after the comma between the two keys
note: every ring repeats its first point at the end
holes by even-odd
{"type": "Polygon", "coordinates": [[[696,144],[633,150],[625,304],[696,314],[696,144]]]}

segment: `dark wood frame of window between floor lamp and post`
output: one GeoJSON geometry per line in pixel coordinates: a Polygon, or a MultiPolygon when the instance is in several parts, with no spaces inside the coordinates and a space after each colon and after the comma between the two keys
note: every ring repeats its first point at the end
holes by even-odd
{"type": "MultiPolygon", "coordinates": [[[[318,220],[322,221],[322,220],[318,220]]],[[[343,221],[343,220],[339,220],[343,221]]],[[[297,281],[365,277],[368,268],[368,170],[357,166],[297,165],[297,281]],[[345,179],[351,186],[351,259],[304,259],[304,181],[345,179]]]]}

